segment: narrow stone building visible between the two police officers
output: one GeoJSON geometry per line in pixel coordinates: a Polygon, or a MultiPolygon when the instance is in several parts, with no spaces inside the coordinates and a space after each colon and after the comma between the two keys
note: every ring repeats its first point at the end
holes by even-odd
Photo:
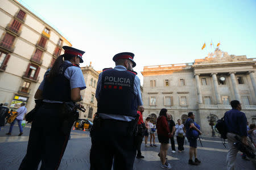
{"type": "Polygon", "coordinates": [[[99,71],[96,71],[92,67],[92,62],[89,66],[81,67],[82,74],[84,74],[84,80],[86,84],[85,90],[81,91],[82,101],[86,111],[80,112],[80,118],[93,120],[94,114],[97,112],[97,100],[95,97],[99,71]]]}

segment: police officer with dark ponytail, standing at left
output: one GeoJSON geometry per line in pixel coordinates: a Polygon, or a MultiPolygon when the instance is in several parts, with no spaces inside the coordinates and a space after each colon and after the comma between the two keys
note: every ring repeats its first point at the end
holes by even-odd
{"type": "Polygon", "coordinates": [[[40,161],[40,169],[59,168],[72,128],[64,124],[64,103],[81,101],[80,91],[86,88],[79,67],[85,52],[70,46],[63,49],[64,54],[47,70],[36,91],[35,99],[42,99],[43,103],[33,116],[27,153],[19,169],[38,169],[40,161]]]}

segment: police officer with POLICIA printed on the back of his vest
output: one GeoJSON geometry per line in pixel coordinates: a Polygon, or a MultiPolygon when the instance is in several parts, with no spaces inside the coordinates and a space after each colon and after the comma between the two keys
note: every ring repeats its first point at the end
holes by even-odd
{"type": "MultiPolygon", "coordinates": [[[[142,105],[140,80],[133,70],[133,53],[113,57],[114,69],[98,78],[97,116],[91,131],[90,169],[133,169],[136,155],[137,109],[142,105]]],[[[138,120],[137,120],[138,121],[138,120]]]]}

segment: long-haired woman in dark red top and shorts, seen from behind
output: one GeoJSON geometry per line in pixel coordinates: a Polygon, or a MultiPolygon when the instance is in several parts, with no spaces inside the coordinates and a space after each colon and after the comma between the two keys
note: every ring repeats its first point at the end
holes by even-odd
{"type": "Polygon", "coordinates": [[[161,168],[171,169],[171,165],[166,161],[169,138],[171,138],[171,132],[167,121],[167,109],[161,109],[159,117],[156,120],[156,129],[158,131],[158,141],[161,143],[159,153],[162,162],[161,168]]]}

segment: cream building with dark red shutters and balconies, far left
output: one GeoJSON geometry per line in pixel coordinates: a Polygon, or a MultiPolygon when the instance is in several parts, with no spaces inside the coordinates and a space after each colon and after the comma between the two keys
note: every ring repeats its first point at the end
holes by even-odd
{"type": "Polygon", "coordinates": [[[51,25],[14,0],[0,3],[0,103],[34,108],[34,94],[61,46],[72,46],[51,25]]]}

